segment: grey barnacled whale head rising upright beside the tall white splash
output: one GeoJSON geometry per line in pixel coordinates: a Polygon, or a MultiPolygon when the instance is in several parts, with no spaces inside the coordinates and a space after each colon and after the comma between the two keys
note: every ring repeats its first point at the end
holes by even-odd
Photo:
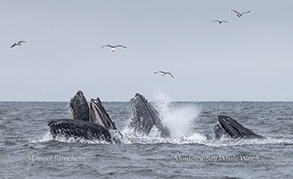
{"type": "Polygon", "coordinates": [[[144,96],[136,93],[134,98],[130,100],[130,106],[131,117],[128,128],[133,129],[135,133],[148,135],[155,126],[162,137],[170,136],[170,130],[163,126],[159,113],[144,96]]]}

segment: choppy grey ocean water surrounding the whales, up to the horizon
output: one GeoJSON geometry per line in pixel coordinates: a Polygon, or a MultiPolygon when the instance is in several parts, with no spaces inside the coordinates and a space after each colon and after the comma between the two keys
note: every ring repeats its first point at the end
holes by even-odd
{"type": "Polygon", "coordinates": [[[127,102],[104,102],[121,144],[52,140],[47,122],[66,102],[0,102],[1,178],[292,178],[293,102],[154,103],[170,138],[125,127],[127,102]],[[226,114],[266,139],[214,140],[226,114]]]}

